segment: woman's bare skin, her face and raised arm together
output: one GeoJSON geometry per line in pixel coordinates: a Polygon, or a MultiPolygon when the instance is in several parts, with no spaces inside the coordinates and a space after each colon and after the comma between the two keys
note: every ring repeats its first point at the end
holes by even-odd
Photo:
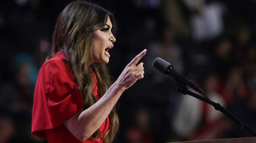
{"type": "MultiPolygon", "coordinates": [[[[112,24],[108,20],[109,30],[99,29],[94,32],[95,39],[93,43],[94,61],[92,62],[109,62],[108,49],[116,41],[111,33],[112,24]]],[[[71,118],[64,122],[68,130],[80,141],[88,139],[100,127],[108,117],[111,109],[117,103],[121,94],[131,87],[137,80],[144,77],[144,67],[139,60],[146,54],[146,49],[135,56],[132,61],[124,68],[116,82],[107,90],[107,92],[91,107],[86,110],[79,110],[71,118]],[[138,65],[137,65],[138,64],[138,65]],[[137,65],[137,66],[136,66],[137,65]]]]}

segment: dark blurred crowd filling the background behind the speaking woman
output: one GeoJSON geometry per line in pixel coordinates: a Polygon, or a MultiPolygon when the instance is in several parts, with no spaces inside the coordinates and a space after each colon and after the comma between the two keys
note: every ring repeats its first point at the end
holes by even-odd
{"type": "MultiPolygon", "coordinates": [[[[147,49],[141,59],[144,79],[118,101],[120,129],[116,142],[252,136],[213,106],[179,93],[176,81],[154,69],[152,63],[157,57],[171,63],[210,100],[255,130],[256,1],[91,1],[116,16],[117,41],[108,64],[113,81],[135,55],[147,49]]],[[[39,69],[51,49],[56,18],[69,2],[0,2],[0,143],[47,142],[31,134],[33,92],[39,69]]]]}

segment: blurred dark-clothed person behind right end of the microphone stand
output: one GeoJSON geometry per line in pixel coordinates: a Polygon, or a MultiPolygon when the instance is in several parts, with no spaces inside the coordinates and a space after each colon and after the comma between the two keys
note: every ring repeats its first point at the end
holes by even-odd
{"type": "MultiPolygon", "coordinates": [[[[250,112],[246,104],[251,93],[245,82],[243,66],[237,65],[229,69],[227,78],[218,83],[218,93],[224,98],[226,108],[247,124],[251,115],[248,114],[250,112]]],[[[229,120],[229,123],[230,129],[225,136],[226,138],[248,137],[248,133],[241,131],[233,120],[229,120]]]]}

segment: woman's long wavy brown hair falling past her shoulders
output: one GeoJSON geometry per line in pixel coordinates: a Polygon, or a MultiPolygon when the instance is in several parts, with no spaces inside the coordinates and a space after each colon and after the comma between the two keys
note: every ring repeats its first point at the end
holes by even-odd
{"type": "MultiPolygon", "coordinates": [[[[96,4],[85,1],[74,1],[60,13],[53,34],[53,47],[46,60],[53,57],[58,51],[62,51],[67,57],[68,65],[72,69],[77,85],[84,100],[84,110],[97,102],[92,93],[93,74],[95,72],[99,96],[102,97],[111,86],[109,69],[105,63],[93,60],[93,32],[102,28],[108,17],[115,26],[115,18],[112,13],[96,4]]],[[[104,143],[111,143],[117,133],[119,120],[114,107],[109,115],[110,126],[104,136],[104,143]]],[[[93,138],[100,138],[99,130],[93,134],[93,138]]]]}

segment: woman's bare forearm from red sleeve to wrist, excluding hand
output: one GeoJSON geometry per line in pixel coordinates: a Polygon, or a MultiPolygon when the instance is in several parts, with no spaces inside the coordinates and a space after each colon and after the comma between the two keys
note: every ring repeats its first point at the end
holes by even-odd
{"type": "Polygon", "coordinates": [[[64,124],[79,140],[86,140],[100,127],[125,90],[114,83],[95,104],[79,111],[64,124]]]}

